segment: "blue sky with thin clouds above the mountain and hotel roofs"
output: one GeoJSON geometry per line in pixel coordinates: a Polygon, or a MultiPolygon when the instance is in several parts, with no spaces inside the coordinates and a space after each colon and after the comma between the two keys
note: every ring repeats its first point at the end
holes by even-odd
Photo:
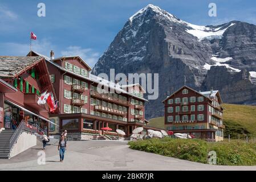
{"type": "Polygon", "coordinates": [[[0,55],[26,55],[32,31],[38,38],[32,42],[35,51],[80,55],[93,67],[128,18],[149,3],[193,24],[256,24],[254,0],[0,0],[0,55]],[[46,5],[46,17],[37,16],[40,2],[46,5]],[[217,17],[208,15],[211,2],[217,5],[217,17]]]}

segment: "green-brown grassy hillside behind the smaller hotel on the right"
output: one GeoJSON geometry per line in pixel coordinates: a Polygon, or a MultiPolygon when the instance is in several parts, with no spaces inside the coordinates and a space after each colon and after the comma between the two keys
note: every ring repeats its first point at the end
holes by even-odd
{"type": "MultiPolygon", "coordinates": [[[[256,106],[224,104],[224,131],[225,137],[230,134],[232,138],[244,135],[256,137],[256,106]]],[[[149,120],[149,126],[164,129],[164,117],[149,120]]]]}

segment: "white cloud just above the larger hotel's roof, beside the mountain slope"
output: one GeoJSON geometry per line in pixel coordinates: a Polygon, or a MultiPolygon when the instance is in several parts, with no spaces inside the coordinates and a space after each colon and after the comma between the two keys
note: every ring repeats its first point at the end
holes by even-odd
{"type": "Polygon", "coordinates": [[[66,50],[61,51],[62,56],[80,56],[90,67],[94,67],[100,57],[98,52],[91,48],[82,48],[80,46],[69,46],[66,50]]]}

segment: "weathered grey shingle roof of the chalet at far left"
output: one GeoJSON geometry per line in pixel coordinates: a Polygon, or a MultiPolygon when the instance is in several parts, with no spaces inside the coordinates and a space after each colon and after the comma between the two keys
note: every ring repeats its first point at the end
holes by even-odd
{"type": "Polygon", "coordinates": [[[0,77],[14,77],[42,59],[41,56],[0,56],[0,77]]]}

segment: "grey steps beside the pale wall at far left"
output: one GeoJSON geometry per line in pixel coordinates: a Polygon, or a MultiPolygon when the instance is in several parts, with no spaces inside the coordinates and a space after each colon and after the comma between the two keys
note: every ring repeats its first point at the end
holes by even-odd
{"type": "Polygon", "coordinates": [[[2,130],[0,133],[0,159],[9,159],[10,140],[15,130],[2,130]]]}

